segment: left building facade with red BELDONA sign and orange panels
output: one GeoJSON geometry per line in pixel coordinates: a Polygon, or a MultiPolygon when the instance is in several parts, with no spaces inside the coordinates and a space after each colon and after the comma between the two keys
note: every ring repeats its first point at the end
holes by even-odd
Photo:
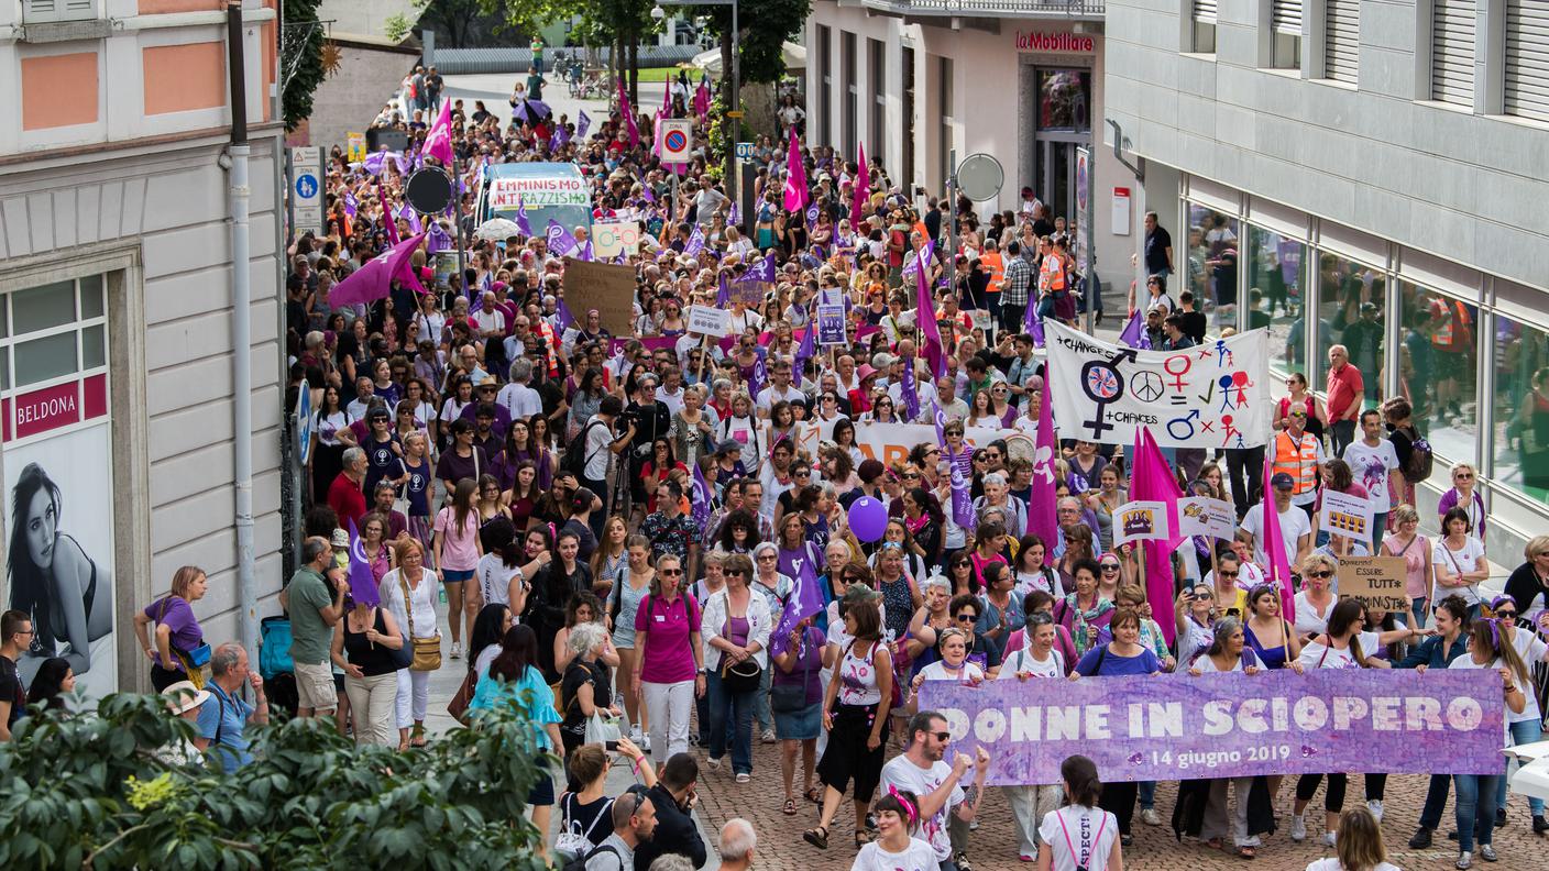
{"type": "MultiPolygon", "coordinates": [[[[133,614],[184,564],[239,637],[234,401],[260,595],[280,587],[277,9],[243,0],[252,394],[232,395],[226,6],[0,2],[0,604],[90,694],[149,688],[133,614]]],[[[256,656],[256,651],[249,651],[256,656]]]]}

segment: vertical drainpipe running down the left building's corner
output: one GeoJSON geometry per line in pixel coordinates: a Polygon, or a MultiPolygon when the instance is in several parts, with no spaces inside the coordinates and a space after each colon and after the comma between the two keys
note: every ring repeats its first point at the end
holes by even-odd
{"type": "Polygon", "coordinates": [[[231,423],[237,525],[237,615],[248,656],[259,652],[259,592],[252,572],[252,324],[248,242],[248,82],[242,53],[242,3],[226,3],[226,67],[231,82],[231,423]]]}

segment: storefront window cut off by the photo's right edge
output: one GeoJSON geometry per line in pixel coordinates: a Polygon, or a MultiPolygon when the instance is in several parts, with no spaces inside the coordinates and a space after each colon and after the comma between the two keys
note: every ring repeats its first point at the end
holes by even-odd
{"type": "Polygon", "coordinates": [[[1490,477],[1549,504],[1549,332],[1496,315],[1493,347],[1490,477]]]}

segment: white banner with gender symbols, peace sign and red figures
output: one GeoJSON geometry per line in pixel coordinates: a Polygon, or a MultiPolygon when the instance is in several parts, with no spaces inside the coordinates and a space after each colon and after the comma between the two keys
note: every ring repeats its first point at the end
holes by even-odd
{"type": "Polygon", "coordinates": [[[1248,330],[1176,352],[1108,344],[1044,324],[1053,411],[1064,439],[1163,448],[1253,448],[1270,432],[1269,333],[1248,330]]]}

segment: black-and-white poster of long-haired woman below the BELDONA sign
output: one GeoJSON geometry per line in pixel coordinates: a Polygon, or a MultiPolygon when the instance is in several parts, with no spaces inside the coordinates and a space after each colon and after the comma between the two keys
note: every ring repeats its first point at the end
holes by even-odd
{"type": "Polygon", "coordinates": [[[64,657],[91,697],[118,690],[113,651],[113,473],[107,423],[5,448],[5,608],[33,617],[19,662],[31,683],[64,657]]]}

